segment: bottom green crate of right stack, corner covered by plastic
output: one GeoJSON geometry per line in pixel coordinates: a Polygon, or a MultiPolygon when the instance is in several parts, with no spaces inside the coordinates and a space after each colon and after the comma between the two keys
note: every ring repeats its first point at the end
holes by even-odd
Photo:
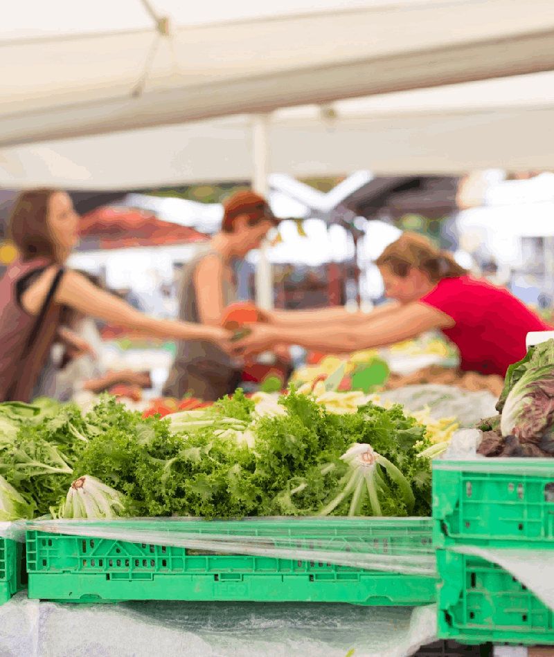
{"type": "Polygon", "coordinates": [[[554,613],[497,564],[437,550],[441,639],[554,645],[554,613]]]}

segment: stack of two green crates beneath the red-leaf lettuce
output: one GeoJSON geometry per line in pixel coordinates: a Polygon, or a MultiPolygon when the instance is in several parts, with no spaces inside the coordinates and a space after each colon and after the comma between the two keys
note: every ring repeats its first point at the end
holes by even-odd
{"type": "Polygon", "coordinates": [[[498,564],[460,553],[464,547],[530,555],[554,550],[554,463],[436,461],[433,519],[438,636],[467,643],[554,644],[551,609],[498,564]]]}

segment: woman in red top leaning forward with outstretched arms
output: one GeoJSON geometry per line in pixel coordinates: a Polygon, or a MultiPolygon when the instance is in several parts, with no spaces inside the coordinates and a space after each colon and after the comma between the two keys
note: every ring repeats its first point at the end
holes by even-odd
{"type": "MultiPolygon", "coordinates": [[[[530,331],[551,331],[544,320],[506,288],[475,279],[431,241],[406,232],[377,260],[384,308],[353,315],[348,323],[318,321],[303,327],[257,325],[240,346],[245,355],[274,342],[301,344],[314,351],[348,353],[411,340],[440,330],[460,351],[461,370],[506,376],[508,366],[526,354],[530,331]]],[[[305,314],[305,313],[304,313],[305,314]]],[[[294,316],[294,313],[287,313],[294,316]]]]}

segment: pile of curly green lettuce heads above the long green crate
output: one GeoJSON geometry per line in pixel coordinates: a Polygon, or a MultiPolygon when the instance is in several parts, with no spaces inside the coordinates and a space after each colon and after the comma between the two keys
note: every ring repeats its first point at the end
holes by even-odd
{"type": "Polygon", "coordinates": [[[239,390],[165,419],[107,395],[85,416],[39,409],[0,429],[0,474],[35,516],[73,508],[68,490],[82,477],[123,494],[123,516],[431,515],[430,461],[417,458],[430,443],[400,405],[334,414],[294,388],[280,405],[259,417],[239,390]],[[342,459],[355,445],[364,454],[342,459]]]}

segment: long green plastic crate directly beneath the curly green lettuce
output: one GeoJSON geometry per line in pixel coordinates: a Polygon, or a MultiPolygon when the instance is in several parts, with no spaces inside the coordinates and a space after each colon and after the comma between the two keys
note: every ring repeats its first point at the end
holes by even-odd
{"type": "MultiPolygon", "coordinates": [[[[419,605],[436,600],[436,566],[430,519],[253,518],[244,521],[135,519],[51,524],[71,533],[27,532],[29,598],[64,602],[123,600],[231,600],[257,602],[348,602],[370,605],[419,605]],[[375,520],[375,522],[371,522],[375,520]],[[87,529],[89,534],[87,535],[87,529]],[[82,531],[82,535],[74,535],[82,531]],[[123,533],[121,533],[123,531],[123,533]],[[152,542],[149,532],[186,535],[202,545],[213,537],[233,553],[216,553],[152,542]],[[104,534],[99,536],[98,534],[104,534]],[[137,540],[142,533],[144,539],[137,540]],[[111,537],[108,537],[111,535],[111,537]],[[122,537],[129,535],[129,540],[122,537]],[[258,554],[240,554],[248,541],[258,554]],[[242,545],[242,547],[241,547],[242,545]],[[283,553],[272,555],[278,546],[283,553]],[[324,553],[325,549],[331,550],[324,553]],[[314,557],[306,555],[310,550],[314,557]],[[418,557],[422,573],[399,573],[332,563],[344,550],[356,559],[404,563],[418,557]],[[432,555],[432,557],[431,557],[432,555]],[[427,559],[429,557],[429,559],[427,559]],[[432,564],[432,565],[429,565],[432,564]]],[[[375,563],[377,563],[375,562],[375,563]]],[[[415,569],[414,569],[415,570],[415,569]]]]}

